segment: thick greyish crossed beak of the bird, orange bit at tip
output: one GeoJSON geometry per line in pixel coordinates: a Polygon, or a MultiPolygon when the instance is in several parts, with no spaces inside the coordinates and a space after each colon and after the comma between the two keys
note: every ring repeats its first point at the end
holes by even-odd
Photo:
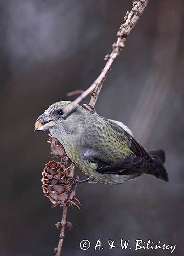
{"type": "Polygon", "coordinates": [[[35,122],[35,131],[45,131],[54,126],[56,120],[51,118],[48,114],[42,114],[35,122]]]}

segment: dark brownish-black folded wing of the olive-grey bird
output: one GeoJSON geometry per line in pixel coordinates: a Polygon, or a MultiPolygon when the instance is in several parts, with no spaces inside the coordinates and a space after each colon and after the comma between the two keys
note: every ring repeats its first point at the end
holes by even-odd
{"type": "Polygon", "coordinates": [[[125,139],[124,136],[126,136],[129,150],[126,153],[126,157],[122,158],[120,156],[116,158],[117,155],[113,152],[114,147],[104,147],[104,152],[97,151],[96,154],[91,154],[89,161],[97,165],[96,171],[109,174],[135,174],[142,173],[144,170],[146,172],[146,169],[153,163],[150,154],[139,142],[116,123],[109,120],[109,125],[118,133],[119,140],[121,139],[121,134],[122,141],[125,139]],[[107,157],[109,154],[114,156],[113,160],[107,157]]]}

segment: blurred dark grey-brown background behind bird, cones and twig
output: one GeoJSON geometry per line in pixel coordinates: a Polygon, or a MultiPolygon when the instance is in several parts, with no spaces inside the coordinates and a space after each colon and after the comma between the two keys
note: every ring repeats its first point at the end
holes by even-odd
{"type": "MultiPolygon", "coordinates": [[[[47,132],[33,132],[34,122],[52,103],[74,100],[67,92],[96,79],[131,1],[0,3],[0,255],[53,255],[62,209],[51,208],[42,193],[50,147],[47,132]]],[[[132,245],[135,239],[161,241],[177,246],[173,255],[183,255],[183,16],[182,0],[150,0],[96,104],[100,115],[124,122],[148,150],[164,148],[170,181],[143,175],[117,186],[80,186],[81,211],[68,211],[74,228],[66,230],[63,255],[170,253],[122,251],[120,239],[132,245]],[[91,241],[87,251],[79,247],[83,239],[91,241]],[[98,239],[104,250],[94,252],[98,239]],[[108,239],[117,247],[110,250],[108,239]]]]}

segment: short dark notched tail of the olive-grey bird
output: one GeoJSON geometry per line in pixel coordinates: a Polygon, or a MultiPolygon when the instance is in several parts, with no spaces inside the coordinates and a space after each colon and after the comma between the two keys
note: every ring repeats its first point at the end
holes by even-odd
{"type": "Polygon", "coordinates": [[[165,163],[165,152],[163,150],[153,150],[149,154],[153,157],[153,167],[147,172],[147,174],[152,174],[158,179],[168,181],[168,173],[163,166],[165,163]]]}

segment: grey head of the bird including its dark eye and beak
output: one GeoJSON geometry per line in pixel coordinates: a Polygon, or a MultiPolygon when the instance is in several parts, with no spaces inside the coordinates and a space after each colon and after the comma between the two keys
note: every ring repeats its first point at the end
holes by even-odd
{"type": "MultiPolygon", "coordinates": [[[[49,129],[53,136],[59,132],[61,136],[82,132],[90,112],[70,101],[60,101],[49,106],[35,122],[36,131],[49,129]]],[[[65,137],[65,136],[64,136],[65,137]]]]}

